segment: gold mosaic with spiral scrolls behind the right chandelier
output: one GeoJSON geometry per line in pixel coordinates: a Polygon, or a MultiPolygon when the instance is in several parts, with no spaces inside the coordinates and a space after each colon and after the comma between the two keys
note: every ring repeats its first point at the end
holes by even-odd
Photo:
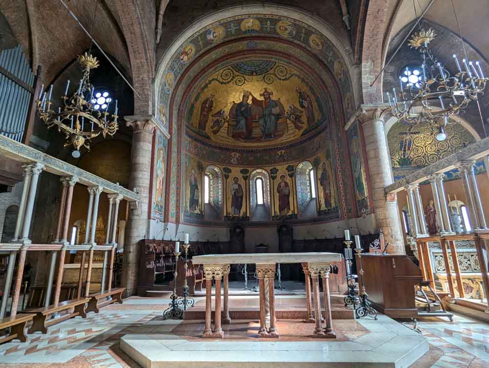
{"type": "Polygon", "coordinates": [[[445,141],[440,142],[435,139],[432,128],[428,125],[395,123],[387,133],[394,180],[433,164],[475,142],[472,134],[459,123],[447,125],[445,133],[445,141]]]}

